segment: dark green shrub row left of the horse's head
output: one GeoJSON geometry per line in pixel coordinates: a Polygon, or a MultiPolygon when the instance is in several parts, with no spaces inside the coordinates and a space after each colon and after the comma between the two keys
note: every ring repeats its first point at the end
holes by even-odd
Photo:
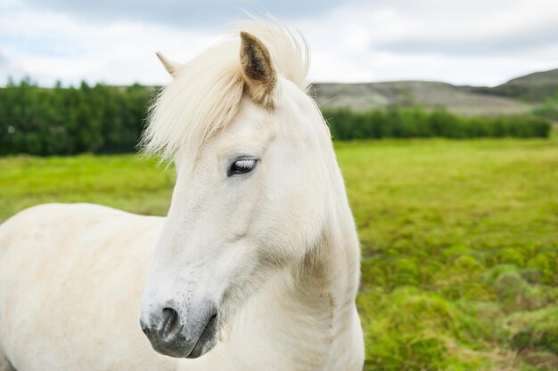
{"type": "Polygon", "coordinates": [[[133,151],[151,95],[141,85],[8,85],[0,89],[0,155],[133,151]]]}

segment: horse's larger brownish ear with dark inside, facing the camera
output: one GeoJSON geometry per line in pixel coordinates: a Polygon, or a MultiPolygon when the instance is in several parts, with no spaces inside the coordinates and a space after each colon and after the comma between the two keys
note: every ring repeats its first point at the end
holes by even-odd
{"type": "Polygon", "coordinates": [[[274,109],[272,93],[277,83],[277,73],[271,56],[258,37],[241,31],[241,65],[244,86],[252,101],[266,109],[274,109]]]}

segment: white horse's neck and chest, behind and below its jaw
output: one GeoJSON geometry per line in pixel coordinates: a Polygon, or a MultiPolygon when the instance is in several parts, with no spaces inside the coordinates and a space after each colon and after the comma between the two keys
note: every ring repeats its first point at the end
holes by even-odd
{"type": "MultiPolygon", "coordinates": [[[[281,354],[273,362],[292,370],[362,368],[355,306],[358,240],[339,169],[336,176],[338,199],[332,202],[323,238],[302,262],[270,278],[235,320],[231,345],[239,340],[245,350],[250,339],[252,359],[258,354],[265,362],[267,355],[275,359],[281,354]]],[[[270,361],[262,367],[277,365],[270,361]]]]}

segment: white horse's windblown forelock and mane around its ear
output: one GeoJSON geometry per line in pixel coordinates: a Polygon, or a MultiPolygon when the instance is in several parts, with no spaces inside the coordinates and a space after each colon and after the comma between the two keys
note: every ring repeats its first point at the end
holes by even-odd
{"type": "Polygon", "coordinates": [[[257,36],[269,50],[277,73],[306,90],[309,50],[304,37],[276,21],[249,20],[182,66],[150,109],[142,144],[148,153],[172,159],[195,151],[236,115],[244,82],[239,57],[240,30],[257,36]]]}

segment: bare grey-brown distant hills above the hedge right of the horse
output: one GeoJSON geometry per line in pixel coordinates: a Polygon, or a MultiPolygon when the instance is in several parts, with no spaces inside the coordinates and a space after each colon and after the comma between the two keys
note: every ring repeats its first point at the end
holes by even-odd
{"type": "Polygon", "coordinates": [[[496,87],[455,86],[429,81],[314,84],[322,107],[382,108],[390,104],[446,107],[459,115],[516,115],[531,112],[547,97],[558,97],[558,69],[537,72],[496,87]]]}

